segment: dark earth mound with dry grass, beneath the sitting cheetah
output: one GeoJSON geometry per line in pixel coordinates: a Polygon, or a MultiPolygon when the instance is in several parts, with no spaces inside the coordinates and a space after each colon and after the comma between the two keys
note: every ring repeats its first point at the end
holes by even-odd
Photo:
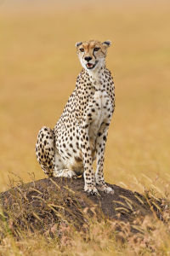
{"type": "Polygon", "coordinates": [[[13,231],[28,227],[44,232],[56,223],[71,224],[79,229],[88,218],[109,218],[132,224],[135,218],[153,214],[154,208],[150,208],[150,200],[145,196],[107,184],[114,189],[113,195],[104,192],[87,195],[82,177],[53,177],[11,184],[11,188],[0,195],[3,218],[13,231]]]}

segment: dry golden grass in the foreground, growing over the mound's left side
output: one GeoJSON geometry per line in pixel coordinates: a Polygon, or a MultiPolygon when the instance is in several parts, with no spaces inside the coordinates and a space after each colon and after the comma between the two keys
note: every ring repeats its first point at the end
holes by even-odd
{"type": "Polygon", "coordinates": [[[106,218],[69,184],[63,187],[61,181],[49,183],[47,179],[45,183],[25,184],[20,177],[16,179],[17,183],[10,181],[1,201],[2,256],[170,254],[170,201],[166,196],[158,200],[150,191],[139,198],[154,212],[145,218],[133,211],[132,201],[126,197],[133,218],[122,222],[120,216],[128,208],[123,203],[116,219],[106,218]]]}

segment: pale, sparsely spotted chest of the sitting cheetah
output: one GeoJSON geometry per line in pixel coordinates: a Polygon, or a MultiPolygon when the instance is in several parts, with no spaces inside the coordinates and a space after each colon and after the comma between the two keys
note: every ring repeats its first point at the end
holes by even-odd
{"type": "Polygon", "coordinates": [[[100,126],[111,117],[111,100],[105,90],[97,90],[94,93],[92,101],[89,102],[89,109],[91,109],[91,124],[88,135],[90,148],[93,150],[100,126]]]}

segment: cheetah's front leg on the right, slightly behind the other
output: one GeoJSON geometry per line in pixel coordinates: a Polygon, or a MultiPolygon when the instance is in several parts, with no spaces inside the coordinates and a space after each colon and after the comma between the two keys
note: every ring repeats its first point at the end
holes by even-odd
{"type": "Polygon", "coordinates": [[[95,180],[96,180],[97,188],[100,191],[105,191],[106,193],[113,194],[114,190],[105,184],[105,178],[104,178],[104,172],[103,172],[104,160],[105,160],[105,143],[107,140],[109,124],[110,124],[109,122],[107,122],[107,125],[105,125],[104,123],[103,125],[101,125],[99,129],[99,134],[98,134],[97,143],[96,143],[97,169],[95,172],[95,180]]]}

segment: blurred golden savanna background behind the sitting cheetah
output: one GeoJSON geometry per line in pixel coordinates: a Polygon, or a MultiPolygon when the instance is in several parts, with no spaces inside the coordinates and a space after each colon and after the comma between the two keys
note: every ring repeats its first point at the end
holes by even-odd
{"type": "Polygon", "coordinates": [[[8,189],[11,172],[25,182],[32,172],[45,177],[37,133],[58,121],[82,69],[75,44],[89,39],[112,42],[106,66],[116,112],[106,182],[139,192],[150,183],[168,187],[170,2],[3,0],[0,15],[0,191],[8,189]]]}

